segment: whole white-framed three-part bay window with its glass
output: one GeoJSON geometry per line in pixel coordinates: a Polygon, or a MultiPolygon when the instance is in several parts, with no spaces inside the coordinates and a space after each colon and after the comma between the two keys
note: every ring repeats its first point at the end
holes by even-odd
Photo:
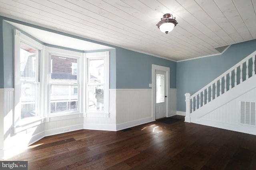
{"type": "Polygon", "coordinates": [[[108,51],[81,53],[44,46],[18,30],[14,35],[15,122],[80,113],[109,117],[108,51]]]}

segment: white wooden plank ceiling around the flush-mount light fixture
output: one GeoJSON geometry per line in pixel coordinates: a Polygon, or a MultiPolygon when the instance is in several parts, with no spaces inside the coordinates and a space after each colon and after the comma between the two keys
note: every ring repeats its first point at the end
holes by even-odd
{"type": "Polygon", "coordinates": [[[0,15],[174,61],[256,39],[256,0],[0,0],[0,15]]]}

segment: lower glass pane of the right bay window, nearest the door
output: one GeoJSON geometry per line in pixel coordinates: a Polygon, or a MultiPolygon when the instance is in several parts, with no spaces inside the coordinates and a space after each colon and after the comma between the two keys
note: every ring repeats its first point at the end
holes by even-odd
{"type": "Polygon", "coordinates": [[[104,86],[88,86],[88,110],[104,111],[104,86]]]}

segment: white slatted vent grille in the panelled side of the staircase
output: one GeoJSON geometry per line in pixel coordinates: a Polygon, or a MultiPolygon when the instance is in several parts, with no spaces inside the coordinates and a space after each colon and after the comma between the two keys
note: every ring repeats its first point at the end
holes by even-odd
{"type": "Polygon", "coordinates": [[[240,124],[255,126],[256,102],[240,102],[240,124]]]}

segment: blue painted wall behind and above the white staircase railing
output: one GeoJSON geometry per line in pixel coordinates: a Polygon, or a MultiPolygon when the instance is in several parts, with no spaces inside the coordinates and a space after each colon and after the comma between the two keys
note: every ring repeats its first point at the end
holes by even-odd
{"type": "Polygon", "coordinates": [[[185,93],[194,94],[256,50],[256,40],[231,45],[222,55],[177,63],[177,110],[186,111],[185,93]]]}

